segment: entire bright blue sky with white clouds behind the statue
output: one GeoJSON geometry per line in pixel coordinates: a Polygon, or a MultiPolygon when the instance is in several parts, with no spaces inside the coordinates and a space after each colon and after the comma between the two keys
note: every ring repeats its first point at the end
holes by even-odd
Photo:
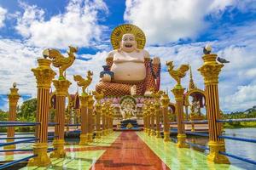
{"type": "MultiPolygon", "coordinates": [[[[8,109],[6,94],[13,82],[20,88],[20,104],[36,96],[30,69],[44,48],[65,53],[68,45],[78,46],[67,77],[72,81],[73,74],[90,69],[93,89],[112,49],[111,31],[123,23],[139,26],[149,54],[160,57],[162,89],[174,85],[167,60],[189,63],[195,83],[203,88],[197,68],[202,47],[210,43],[214,53],[230,60],[219,78],[221,109],[244,111],[256,105],[255,0],[0,0],[0,109],[8,109]]],[[[185,77],[183,86],[188,82],[185,77]]],[[[70,93],[76,90],[73,82],[70,93]]]]}

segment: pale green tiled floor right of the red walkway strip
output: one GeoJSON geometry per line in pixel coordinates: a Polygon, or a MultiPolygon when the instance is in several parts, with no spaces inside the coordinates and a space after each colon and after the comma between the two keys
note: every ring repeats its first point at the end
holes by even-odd
{"type": "Polygon", "coordinates": [[[137,135],[143,139],[148,147],[160,157],[171,169],[184,169],[184,170],[225,170],[225,169],[240,169],[232,165],[214,164],[207,161],[207,156],[203,153],[187,149],[177,148],[173,142],[165,143],[163,139],[156,139],[155,137],[148,136],[143,132],[138,132],[137,135]]]}

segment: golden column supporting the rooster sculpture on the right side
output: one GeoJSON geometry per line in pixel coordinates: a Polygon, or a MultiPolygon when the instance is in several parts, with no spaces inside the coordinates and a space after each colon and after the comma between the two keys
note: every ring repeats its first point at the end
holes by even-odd
{"type": "Polygon", "coordinates": [[[175,88],[172,89],[172,93],[175,96],[176,100],[176,116],[177,116],[177,147],[179,148],[185,148],[188,147],[187,144],[185,144],[186,140],[186,134],[185,134],[185,126],[183,124],[183,93],[184,88],[182,88],[181,85],[175,86],[175,88]]]}

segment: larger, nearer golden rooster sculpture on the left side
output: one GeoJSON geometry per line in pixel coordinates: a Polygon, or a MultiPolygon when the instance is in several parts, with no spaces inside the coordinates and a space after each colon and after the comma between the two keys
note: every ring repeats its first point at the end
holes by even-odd
{"type": "Polygon", "coordinates": [[[47,48],[43,51],[44,58],[49,57],[49,59],[52,59],[52,65],[59,68],[60,78],[64,78],[63,72],[73,65],[73,61],[76,59],[74,54],[78,52],[78,48],[72,46],[68,46],[68,48],[68,57],[64,57],[60,51],[54,48],[47,48]]]}

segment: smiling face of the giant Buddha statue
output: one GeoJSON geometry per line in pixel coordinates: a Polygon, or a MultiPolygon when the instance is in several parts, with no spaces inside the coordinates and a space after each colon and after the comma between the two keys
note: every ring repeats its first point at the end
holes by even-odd
{"type": "Polygon", "coordinates": [[[133,34],[124,34],[121,41],[121,48],[125,52],[132,52],[137,48],[137,42],[133,34]]]}

